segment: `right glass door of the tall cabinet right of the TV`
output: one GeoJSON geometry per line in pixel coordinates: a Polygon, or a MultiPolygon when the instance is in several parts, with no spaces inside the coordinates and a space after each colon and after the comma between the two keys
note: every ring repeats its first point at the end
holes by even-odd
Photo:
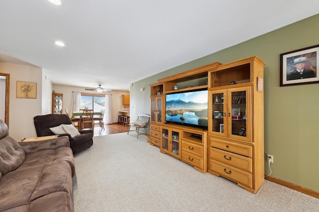
{"type": "Polygon", "coordinates": [[[228,91],[229,95],[229,125],[228,133],[229,135],[242,136],[249,138],[249,111],[250,106],[250,87],[245,87],[241,89],[230,89],[228,91]]]}

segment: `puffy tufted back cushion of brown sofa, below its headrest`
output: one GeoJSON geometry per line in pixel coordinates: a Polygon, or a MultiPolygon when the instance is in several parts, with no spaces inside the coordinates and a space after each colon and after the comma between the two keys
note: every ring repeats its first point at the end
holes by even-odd
{"type": "Polygon", "coordinates": [[[0,139],[0,173],[4,174],[17,169],[25,159],[25,152],[12,137],[0,139]]]}

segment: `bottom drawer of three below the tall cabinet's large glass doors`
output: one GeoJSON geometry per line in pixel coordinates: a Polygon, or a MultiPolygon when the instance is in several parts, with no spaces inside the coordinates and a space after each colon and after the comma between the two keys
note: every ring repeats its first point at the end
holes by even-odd
{"type": "Polygon", "coordinates": [[[253,188],[253,175],[251,173],[227,166],[212,159],[209,159],[209,170],[218,173],[229,180],[235,181],[237,184],[253,188]]]}

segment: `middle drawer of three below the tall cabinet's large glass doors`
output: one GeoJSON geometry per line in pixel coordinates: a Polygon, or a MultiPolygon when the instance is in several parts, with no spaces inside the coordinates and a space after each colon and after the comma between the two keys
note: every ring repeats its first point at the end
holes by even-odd
{"type": "Polygon", "coordinates": [[[226,165],[239,168],[249,173],[252,173],[253,170],[253,161],[251,158],[216,149],[213,147],[209,147],[209,158],[224,163],[226,165]]]}

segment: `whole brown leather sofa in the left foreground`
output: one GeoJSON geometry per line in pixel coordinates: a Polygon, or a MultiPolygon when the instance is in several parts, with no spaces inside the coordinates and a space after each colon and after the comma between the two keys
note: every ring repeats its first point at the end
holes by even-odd
{"type": "Polygon", "coordinates": [[[72,212],[69,146],[67,136],[16,142],[0,119],[0,211],[72,212]]]}

